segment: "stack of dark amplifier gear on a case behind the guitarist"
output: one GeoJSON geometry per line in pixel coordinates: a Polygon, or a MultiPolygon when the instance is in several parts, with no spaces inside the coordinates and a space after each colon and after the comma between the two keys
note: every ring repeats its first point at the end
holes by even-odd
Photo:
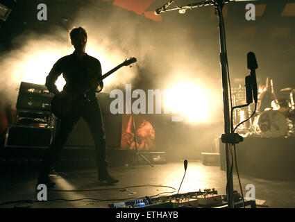
{"type": "Polygon", "coordinates": [[[17,97],[15,123],[6,131],[6,147],[46,148],[54,136],[56,119],[45,85],[22,82],[17,97]]]}

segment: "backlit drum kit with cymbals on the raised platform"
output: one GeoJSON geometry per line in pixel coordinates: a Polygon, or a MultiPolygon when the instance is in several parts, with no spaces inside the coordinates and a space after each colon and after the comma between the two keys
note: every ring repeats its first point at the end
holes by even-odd
{"type": "MultiPolygon", "coordinates": [[[[295,89],[287,87],[280,89],[280,96],[277,98],[271,80],[271,90],[266,87],[260,92],[254,117],[237,128],[238,133],[258,137],[295,137],[294,95],[295,89]]],[[[246,119],[252,110],[253,107],[250,106],[244,112],[239,110],[236,119],[246,119]]]]}

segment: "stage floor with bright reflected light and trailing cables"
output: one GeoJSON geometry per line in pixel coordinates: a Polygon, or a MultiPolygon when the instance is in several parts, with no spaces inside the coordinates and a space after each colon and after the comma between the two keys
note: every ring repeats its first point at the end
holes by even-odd
{"type": "MultiPolygon", "coordinates": [[[[185,172],[182,161],[156,164],[154,167],[147,164],[135,165],[135,167],[110,167],[109,171],[112,176],[120,180],[116,185],[99,185],[96,169],[58,172],[58,175],[51,176],[51,179],[56,182],[54,189],[76,191],[48,191],[48,200],[67,200],[36,202],[33,203],[32,207],[108,208],[109,203],[122,202],[119,199],[143,198],[163,192],[174,192],[176,194],[185,172]],[[90,189],[95,190],[77,191],[90,189]],[[81,198],[93,199],[69,201],[81,198]]],[[[256,199],[266,200],[264,205],[269,207],[295,207],[294,180],[276,181],[245,175],[240,176],[244,195],[247,191],[246,185],[253,184],[256,199]]],[[[37,172],[2,174],[0,203],[16,200],[37,200],[36,178],[37,172]]],[[[215,188],[218,194],[226,194],[226,172],[221,171],[218,166],[205,166],[201,161],[188,161],[187,173],[180,194],[205,188],[215,188]]],[[[234,174],[234,189],[240,193],[236,174],[234,174]]],[[[166,195],[171,194],[167,193],[166,195]]],[[[14,206],[15,203],[0,205],[0,207],[8,208],[14,206]]]]}

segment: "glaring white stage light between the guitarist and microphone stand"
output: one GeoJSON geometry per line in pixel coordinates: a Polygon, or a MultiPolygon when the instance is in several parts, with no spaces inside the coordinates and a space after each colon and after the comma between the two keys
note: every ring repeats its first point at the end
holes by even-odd
{"type": "Polygon", "coordinates": [[[171,112],[183,114],[189,122],[201,123],[208,120],[208,95],[195,83],[185,81],[174,85],[167,90],[164,103],[171,112]]]}

